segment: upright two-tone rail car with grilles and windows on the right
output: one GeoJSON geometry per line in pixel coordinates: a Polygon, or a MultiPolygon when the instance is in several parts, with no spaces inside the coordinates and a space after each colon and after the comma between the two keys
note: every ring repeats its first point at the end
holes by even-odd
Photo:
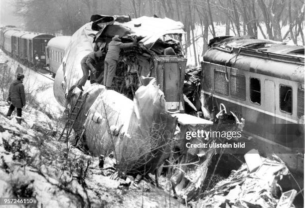
{"type": "Polygon", "coordinates": [[[249,37],[210,41],[202,62],[204,106],[245,119],[243,134],[264,155],[304,172],[304,47],[249,37]]]}

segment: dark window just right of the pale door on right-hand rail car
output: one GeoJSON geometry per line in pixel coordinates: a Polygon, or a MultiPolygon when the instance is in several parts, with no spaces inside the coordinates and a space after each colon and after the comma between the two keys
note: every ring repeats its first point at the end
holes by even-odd
{"type": "Polygon", "coordinates": [[[280,109],[286,113],[292,113],[292,88],[280,85],[280,109]]]}

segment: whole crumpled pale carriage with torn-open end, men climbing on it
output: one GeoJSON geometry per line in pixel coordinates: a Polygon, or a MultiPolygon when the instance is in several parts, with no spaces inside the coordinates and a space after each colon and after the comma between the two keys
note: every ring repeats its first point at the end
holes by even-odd
{"type": "Polygon", "coordinates": [[[134,166],[128,170],[151,172],[169,151],[175,130],[176,119],[168,112],[184,111],[183,24],[147,16],[131,20],[126,16],[93,15],[91,20],[72,35],[65,49],[63,64],[55,76],[54,95],[59,103],[71,107],[72,115],[77,114],[70,119],[73,129],[85,135],[91,152],[107,155],[114,151],[121,165],[126,162],[134,166]],[[140,43],[121,51],[115,91],[88,82],[83,93],[74,89],[82,76],[81,59],[94,46],[107,51],[114,35],[120,35],[122,42],[140,43]],[[76,111],[78,100],[82,100],[82,108],[76,111]]]}

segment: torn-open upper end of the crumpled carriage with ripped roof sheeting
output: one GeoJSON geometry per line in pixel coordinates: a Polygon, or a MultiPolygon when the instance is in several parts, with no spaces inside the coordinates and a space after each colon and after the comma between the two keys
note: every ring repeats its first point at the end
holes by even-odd
{"type": "Polygon", "coordinates": [[[133,98],[141,86],[141,79],[156,78],[165,96],[166,110],[183,112],[183,81],[186,58],[181,45],[183,24],[169,18],[142,16],[133,20],[126,17],[93,15],[97,19],[92,29],[99,30],[94,42],[107,50],[114,35],[122,37],[122,42],[138,42],[140,47],[123,49],[118,63],[115,90],[133,98]],[[107,24],[110,21],[122,24],[107,24]]]}

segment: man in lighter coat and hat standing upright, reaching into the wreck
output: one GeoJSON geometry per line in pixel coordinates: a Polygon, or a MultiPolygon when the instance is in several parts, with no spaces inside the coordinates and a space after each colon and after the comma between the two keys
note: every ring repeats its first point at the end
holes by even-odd
{"type": "Polygon", "coordinates": [[[133,45],[134,43],[122,43],[119,35],[115,35],[108,44],[104,68],[104,85],[106,89],[111,89],[112,79],[116,75],[121,48],[128,48],[133,45]]]}

